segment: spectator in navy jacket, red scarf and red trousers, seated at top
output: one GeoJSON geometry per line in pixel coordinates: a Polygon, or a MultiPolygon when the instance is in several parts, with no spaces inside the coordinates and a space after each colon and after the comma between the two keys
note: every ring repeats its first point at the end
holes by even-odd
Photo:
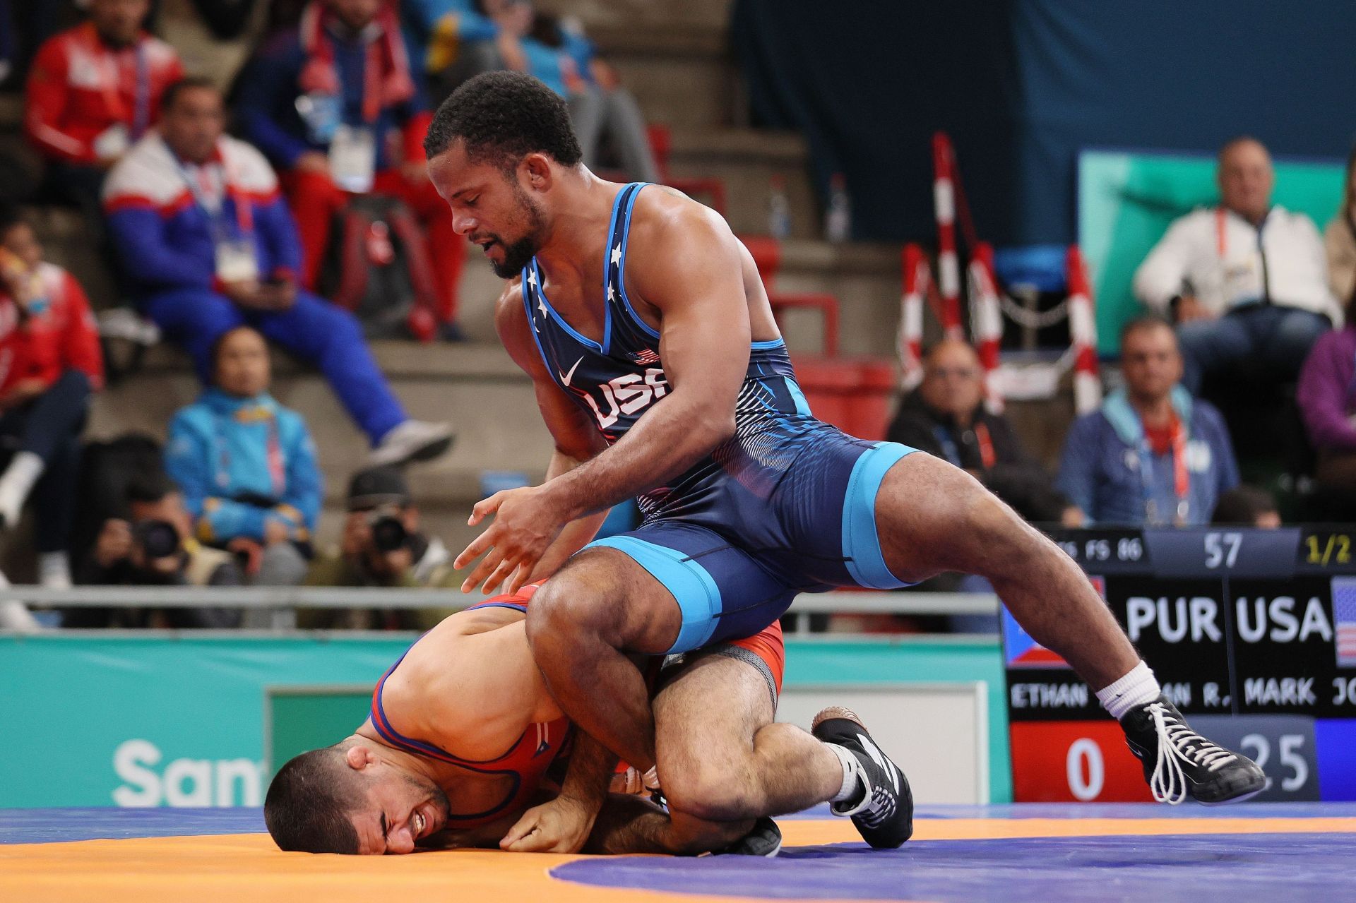
{"type": "Polygon", "coordinates": [[[350,197],[393,195],[428,232],[438,325],[460,338],[457,281],[466,245],[428,180],[430,114],[392,5],[308,4],[297,27],[268,38],[245,65],[236,113],[244,136],[283,174],[301,232],[302,285],[315,289],[331,222],[350,197]]]}

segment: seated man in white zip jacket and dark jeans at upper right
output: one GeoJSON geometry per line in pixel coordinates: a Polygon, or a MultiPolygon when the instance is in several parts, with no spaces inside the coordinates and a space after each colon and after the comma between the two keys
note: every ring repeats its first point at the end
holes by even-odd
{"type": "Polygon", "coordinates": [[[1135,294],[1178,323],[1182,384],[1231,365],[1262,365],[1291,381],[1319,335],[1340,320],[1318,229],[1271,202],[1267,148],[1235,138],[1219,152],[1219,197],[1173,222],[1135,273],[1135,294]]]}

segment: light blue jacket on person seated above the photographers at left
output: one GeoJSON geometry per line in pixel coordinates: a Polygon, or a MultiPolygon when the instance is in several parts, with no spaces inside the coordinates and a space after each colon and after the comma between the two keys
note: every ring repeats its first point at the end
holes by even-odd
{"type": "Polygon", "coordinates": [[[182,408],[170,423],[165,470],[205,542],[262,540],[270,521],[286,523],[297,541],[316,529],[323,483],[315,443],[301,415],[267,392],[237,399],[207,389],[182,408]]]}

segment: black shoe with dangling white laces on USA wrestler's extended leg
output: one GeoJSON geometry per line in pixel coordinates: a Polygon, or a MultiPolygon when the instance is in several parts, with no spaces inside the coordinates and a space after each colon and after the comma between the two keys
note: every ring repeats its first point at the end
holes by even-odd
{"type": "Polygon", "coordinates": [[[1239,803],[1267,786],[1256,762],[1192,731],[1166,696],[1127,712],[1120,727],[1159,803],[1239,803]]]}

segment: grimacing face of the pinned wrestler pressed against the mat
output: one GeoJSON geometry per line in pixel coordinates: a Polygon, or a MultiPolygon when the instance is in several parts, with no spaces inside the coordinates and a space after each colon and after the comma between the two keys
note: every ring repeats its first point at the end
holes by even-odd
{"type": "Polygon", "coordinates": [[[347,754],[366,790],[363,803],[348,812],[348,820],[358,832],[361,856],[414,853],[428,837],[447,824],[447,795],[428,778],[401,769],[384,759],[355,751],[347,754]]]}

